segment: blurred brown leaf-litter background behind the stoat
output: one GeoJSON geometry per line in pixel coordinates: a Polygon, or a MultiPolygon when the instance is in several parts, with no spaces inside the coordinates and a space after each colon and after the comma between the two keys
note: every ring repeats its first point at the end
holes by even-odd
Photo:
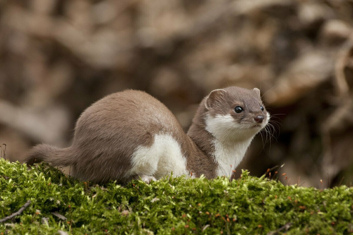
{"type": "Polygon", "coordinates": [[[352,0],[0,0],[11,161],[39,142],[69,146],[79,114],[106,94],[147,91],[187,130],[199,101],[230,85],[260,88],[280,124],[237,172],[285,163],[285,184],[352,185],[352,0]]]}

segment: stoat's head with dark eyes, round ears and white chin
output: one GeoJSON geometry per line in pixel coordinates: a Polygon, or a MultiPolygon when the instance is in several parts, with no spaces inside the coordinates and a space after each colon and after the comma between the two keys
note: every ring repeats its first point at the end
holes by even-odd
{"type": "Polygon", "coordinates": [[[205,128],[217,139],[252,139],[270,119],[258,88],[216,89],[203,103],[205,128]]]}

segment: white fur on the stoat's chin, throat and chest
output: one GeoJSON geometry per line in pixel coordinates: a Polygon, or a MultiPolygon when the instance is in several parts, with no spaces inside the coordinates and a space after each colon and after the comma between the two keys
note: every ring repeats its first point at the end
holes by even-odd
{"type": "MultiPolygon", "coordinates": [[[[263,126],[267,124],[268,119],[263,126]]],[[[247,148],[259,129],[241,125],[229,114],[216,115],[216,117],[207,116],[205,121],[206,130],[215,137],[213,140],[214,157],[219,165],[217,175],[229,176],[243,160],[247,148]]]]}

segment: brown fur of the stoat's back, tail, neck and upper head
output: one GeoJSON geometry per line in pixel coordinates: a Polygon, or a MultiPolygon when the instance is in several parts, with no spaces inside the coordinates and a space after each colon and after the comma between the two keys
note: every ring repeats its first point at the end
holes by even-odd
{"type": "Polygon", "coordinates": [[[186,135],[172,112],[151,95],[134,90],[110,94],[79,117],[71,147],[59,149],[39,144],[29,151],[26,162],[71,165],[74,177],[81,180],[105,183],[113,179],[125,183],[136,177],[125,177],[131,169],[134,150],[140,145],[151,146],[156,134],[168,134],[179,143],[187,159],[187,170],[196,177],[204,174],[215,178],[214,136],[205,129],[205,116],[232,113],[234,105],[247,105],[251,109],[243,117],[235,115],[235,119],[243,122],[252,118],[250,112],[255,114],[259,103],[261,99],[256,90],[239,87],[215,90],[199,105],[186,135]]]}

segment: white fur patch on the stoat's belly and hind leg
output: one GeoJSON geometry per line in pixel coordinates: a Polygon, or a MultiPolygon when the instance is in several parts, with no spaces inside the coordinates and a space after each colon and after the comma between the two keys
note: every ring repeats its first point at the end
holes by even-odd
{"type": "Polygon", "coordinates": [[[132,154],[132,168],[127,176],[147,175],[156,179],[164,175],[187,175],[186,158],[181,153],[180,146],[169,135],[155,135],[152,146],[139,146],[132,154]]]}

